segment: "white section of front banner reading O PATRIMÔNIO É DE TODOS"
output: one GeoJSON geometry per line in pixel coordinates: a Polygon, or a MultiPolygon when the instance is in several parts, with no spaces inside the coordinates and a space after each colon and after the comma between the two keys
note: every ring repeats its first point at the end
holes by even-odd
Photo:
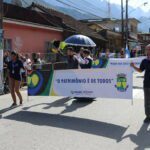
{"type": "Polygon", "coordinates": [[[131,67],[58,70],[50,95],[132,99],[131,67]]]}

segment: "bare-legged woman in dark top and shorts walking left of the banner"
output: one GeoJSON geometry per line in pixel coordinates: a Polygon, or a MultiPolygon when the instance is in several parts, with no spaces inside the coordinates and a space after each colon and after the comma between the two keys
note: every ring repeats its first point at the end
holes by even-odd
{"type": "Polygon", "coordinates": [[[11,61],[8,63],[9,86],[13,99],[11,107],[17,106],[16,94],[19,97],[20,105],[22,105],[23,102],[22,95],[19,91],[21,83],[21,69],[24,69],[24,67],[23,63],[19,60],[18,54],[16,52],[11,52],[11,61]]]}

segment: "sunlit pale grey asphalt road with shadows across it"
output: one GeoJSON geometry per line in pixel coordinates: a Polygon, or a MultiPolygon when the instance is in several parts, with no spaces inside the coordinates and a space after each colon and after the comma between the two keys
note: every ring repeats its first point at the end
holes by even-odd
{"type": "Polygon", "coordinates": [[[30,97],[9,109],[0,96],[0,150],[144,150],[150,149],[149,125],[143,124],[142,75],[134,75],[134,100],[76,101],[30,97]]]}

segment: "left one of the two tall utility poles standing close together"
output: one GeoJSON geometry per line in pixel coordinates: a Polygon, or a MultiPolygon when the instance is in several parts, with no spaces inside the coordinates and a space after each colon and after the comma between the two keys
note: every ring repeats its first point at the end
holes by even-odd
{"type": "Polygon", "coordinates": [[[121,32],[122,32],[122,48],[124,47],[124,8],[123,8],[123,0],[121,0],[121,32]]]}

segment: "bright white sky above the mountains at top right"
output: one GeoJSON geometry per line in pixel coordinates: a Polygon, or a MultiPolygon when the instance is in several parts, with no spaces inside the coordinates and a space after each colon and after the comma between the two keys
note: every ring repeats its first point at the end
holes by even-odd
{"type": "MultiPolygon", "coordinates": [[[[110,2],[115,3],[115,4],[120,4],[121,0],[110,0],[110,2]]],[[[125,2],[126,2],[126,0],[124,0],[124,4],[125,4],[125,2]]],[[[129,5],[134,8],[140,7],[144,11],[150,10],[150,0],[129,0],[129,5]],[[148,2],[148,4],[146,6],[143,5],[145,2],[148,2]]]]}

